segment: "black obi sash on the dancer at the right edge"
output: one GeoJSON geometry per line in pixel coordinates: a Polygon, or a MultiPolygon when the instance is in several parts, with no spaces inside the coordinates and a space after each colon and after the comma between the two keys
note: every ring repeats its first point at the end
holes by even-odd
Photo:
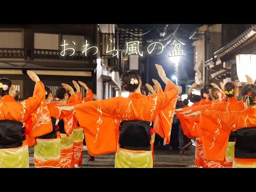
{"type": "Polygon", "coordinates": [[[256,127],[236,130],[236,158],[256,158],[256,127]]]}

